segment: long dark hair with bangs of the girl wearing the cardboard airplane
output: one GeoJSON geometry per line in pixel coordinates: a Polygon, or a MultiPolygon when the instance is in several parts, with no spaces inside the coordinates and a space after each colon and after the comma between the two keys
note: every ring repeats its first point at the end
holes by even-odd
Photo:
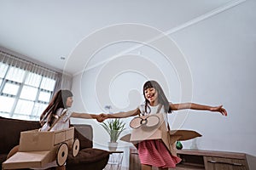
{"type": "Polygon", "coordinates": [[[145,99],[145,112],[146,113],[150,112],[150,108],[148,106],[149,101],[148,99],[146,99],[146,96],[145,96],[145,90],[148,88],[154,88],[157,91],[158,102],[160,103],[160,105],[164,105],[166,113],[171,113],[172,110],[169,105],[168,99],[166,98],[166,94],[164,93],[163,89],[160,87],[160,84],[158,82],[155,82],[154,80],[145,82],[143,85],[143,95],[145,99]],[[147,111],[147,108],[149,109],[149,111],[147,111]]]}

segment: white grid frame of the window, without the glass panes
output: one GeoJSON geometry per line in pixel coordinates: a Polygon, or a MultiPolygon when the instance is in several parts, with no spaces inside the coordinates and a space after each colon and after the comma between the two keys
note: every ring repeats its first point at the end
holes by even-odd
{"type": "MultiPolygon", "coordinates": [[[[0,57],[1,57],[0,59],[2,59],[3,56],[0,55],[0,57]]],[[[9,56],[5,56],[5,57],[9,57],[9,56]]],[[[14,56],[10,56],[10,57],[15,59],[14,56]]],[[[0,81],[0,96],[4,96],[4,97],[8,97],[8,98],[14,98],[15,101],[14,101],[14,104],[11,106],[11,109],[10,109],[9,112],[1,111],[0,110],[0,116],[7,116],[9,118],[18,118],[18,119],[34,120],[34,121],[37,120],[38,121],[40,113],[38,112],[38,113],[34,113],[33,114],[33,111],[38,111],[38,108],[39,108],[39,111],[40,111],[40,107],[41,107],[40,105],[48,105],[49,104],[50,99],[52,98],[53,94],[55,93],[57,82],[60,79],[60,77],[57,76],[58,73],[55,72],[55,71],[51,71],[49,69],[45,69],[44,67],[42,67],[40,65],[36,65],[36,64],[34,64],[32,62],[29,62],[29,61],[26,61],[26,60],[23,60],[23,59],[21,59],[21,61],[25,61],[26,63],[28,63],[27,64],[28,68],[26,68],[26,66],[20,68],[17,65],[12,65],[12,64],[9,64],[8,62],[3,62],[3,60],[4,60],[4,58],[2,60],[0,60],[0,66],[7,65],[8,68],[6,69],[3,77],[0,77],[0,79],[2,80],[2,82],[0,81]],[[55,77],[48,77],[46,73],[39,74],[38,72],[32,71],[31,70],[31,65],[32,66],[36,66],[36,67],[38,67],[40,69],[44,69],[44,71],[46,71],[46,72],[49,71],[51,74],[54,74],[55,77]],[[18,71],[19,70],[25,71],[24,77],[22,79],[22,82],[15,82],[14,80],[7,79],[7,75],[9,74],[9,71],[10,71],[11,67],[15,67],[16,69],[18,69],[18,71]],[[40,77],[40,82],[39,82],[38,86],[33,86],[33,85],[29,84],[29,83],[26,83],[26,78],[28,77],[29,73],[34,73],[34,74],[38,74],[38,75],[41,76],[40,77]],[[44,78],[49,78],[50,80],[54,81],[53,82],[54,86],[52,87],[52,89],[49,90],[49,89],[44,89],[44,87],[41,87],[44,78]],[[4,88],[5,88],[7,83],[15,84],[15,85],[18,84],[19,85],[19,88],[18,88],[17,93],[15,95],[14,94],[5,94],[5,93],[3,93],[3,90],[4,90],[4,88]],[[37,88],[37,94],[36,94],[35,99],[23,99],[23,98],[20,98],[20,94],[22,92],[22,89],[24,89],[25,86],[32,87],[32,88],[37,88]],[[46,92],[46,93],[50,94],[48,102],[39,100],[39,94],[41,92],[46,92]],[[27,114],[17,113],[16,109],[17,109],[18,102],[20,101],[20,99],[32,102],[32,110],[30,111],[30,113],[27,113],[27,114]],[[23,118],[20,118],[20,117],[23,117],[23,118]],[[26,118],[24,118],[24,117],[26,117],[26,118]]]]}

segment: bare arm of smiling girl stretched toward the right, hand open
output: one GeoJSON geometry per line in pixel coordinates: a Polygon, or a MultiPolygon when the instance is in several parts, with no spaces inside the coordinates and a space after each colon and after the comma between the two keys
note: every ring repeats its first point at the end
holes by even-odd
{"type": "Polygon", "coordinates": [[[223,105],[209,106],[209,105],[199,105],[195,103],[183,103],[183,104],[170,104],[172,111],[178,111],[183,109],[192,109],[200,111],[218,111],[223,116],[227,116],[227,111],[223,108],[223,105]]]}

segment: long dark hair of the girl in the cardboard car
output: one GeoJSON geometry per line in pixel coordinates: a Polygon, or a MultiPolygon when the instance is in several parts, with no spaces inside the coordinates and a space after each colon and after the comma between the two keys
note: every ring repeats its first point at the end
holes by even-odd
{"type": "Polygon", "coordinates": [[[44,125],[44,122],[48,122],[49,126],[51,126],[55,121],[56,111],[60,108],[66,109],[67,98],[72,96],[73,94],[69,90],[59,90],[50,100],[49,105],[40,116],[41,125],[44,125]]]}

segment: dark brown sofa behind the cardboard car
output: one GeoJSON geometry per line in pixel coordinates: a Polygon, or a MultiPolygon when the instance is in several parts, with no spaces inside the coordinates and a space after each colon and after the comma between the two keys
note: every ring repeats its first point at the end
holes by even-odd
{"type": "MultiPolygon", "coordinates": [[[[20,132],[40,127],[39,122],[9,119],[0,116],[0,163],[6,160],[9,150],[19,144],[20,132]]],[[[90,125],[73,125],[75,138],[80,141],[79,155],[67,157],[67,170],[102,170],[108,163],[109,152],[92,148],[93,129],[90,125]]]]}

